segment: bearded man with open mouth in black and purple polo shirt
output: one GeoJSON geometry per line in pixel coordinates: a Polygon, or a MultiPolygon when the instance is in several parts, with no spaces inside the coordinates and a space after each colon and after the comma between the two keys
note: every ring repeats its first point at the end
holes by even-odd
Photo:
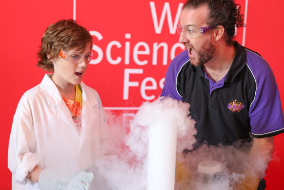
{"type": "MultiPolygon", "coordinates": [[[[198,131],[195,148],[252,136],[251,161],[267,166],[273,136],[284,132],[284,115],[268,63],[232,40],[235,26],[243,25],[235,0],[188,0],[177,28],[186,50],[170,63],[161,96],[190,104],[198,131]]],[[[265,169],[252,173],[263,178],[265,169]]]]}

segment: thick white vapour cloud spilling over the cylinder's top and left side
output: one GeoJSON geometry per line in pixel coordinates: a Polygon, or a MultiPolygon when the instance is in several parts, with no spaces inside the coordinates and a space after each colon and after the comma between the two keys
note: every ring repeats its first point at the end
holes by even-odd
{"type": "MultiPolygon", "coordinates": [[[[97,161],[96,186],[103,190],[145,190],[147,186],[147,158],[149,126],[171,118],[171,126],[178,127],[177,152],[192,149],[196,142],[195,122],[188,117],[189,104],[172,98],[145,102],[132,120],[131,113],[114,116],[109,120],[109,149],[97,161]],[[127,120],[127,119],[126,119],[127,120]],[[127,128],[129,127],[129,129],[127,128]]],[[[105,151],[104,151],[105,152],[105,151]]]]}

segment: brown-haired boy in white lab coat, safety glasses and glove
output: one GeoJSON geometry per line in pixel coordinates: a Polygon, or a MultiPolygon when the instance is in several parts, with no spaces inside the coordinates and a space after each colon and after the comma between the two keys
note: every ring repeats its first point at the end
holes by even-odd
{"type": "Polygon", "coordinates": [[[44,32],[37,66],[53,73],[17,107],[8,150],[13,190],[89,189],[93,173],[86,171],[99,155],[106,123],[98,93],[81,82],[92,46],[90,33],[74,20],[44,32]]]}

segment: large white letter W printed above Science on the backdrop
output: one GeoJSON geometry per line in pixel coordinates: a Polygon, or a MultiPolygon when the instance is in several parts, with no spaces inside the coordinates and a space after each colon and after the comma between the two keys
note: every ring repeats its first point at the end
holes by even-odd
{"type": "Polygon", "coordinates": [[[164,5],[163,5],[162,15],[161,15],[159,24],[158,24],[155,2],[150,1],[150,8],[151,8],[151,13],[152,13],[152,18],[153,18],[153,23],[154,23],[154,28],[155,28],[156,34],[161,34],[165,14],[167,14],[167,20],[168,20],[170,34],[175,34],[176,29],[177,29],[177,24],[178,24],[178,21],[179,21],[181,12],[182,12],[183,3],[179,3],[179,7],[178,7],[178,11],[177,11],[174,23],[173,23],[173,20],[172,20],[170,4],[168,2],[165,2],[164,5]]]}

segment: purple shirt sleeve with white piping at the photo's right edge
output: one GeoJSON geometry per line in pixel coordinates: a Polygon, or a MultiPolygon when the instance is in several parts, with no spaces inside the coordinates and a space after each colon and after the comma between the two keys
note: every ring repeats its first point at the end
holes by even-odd
{"type": "Polygon", "coordinates": [[[252,135],[277,135],[284,130],[284,115],[274,74],[262,57],[249,50],[246,53],[247,66],[256,82],[255,98],[248,112],[252,135]]]}

